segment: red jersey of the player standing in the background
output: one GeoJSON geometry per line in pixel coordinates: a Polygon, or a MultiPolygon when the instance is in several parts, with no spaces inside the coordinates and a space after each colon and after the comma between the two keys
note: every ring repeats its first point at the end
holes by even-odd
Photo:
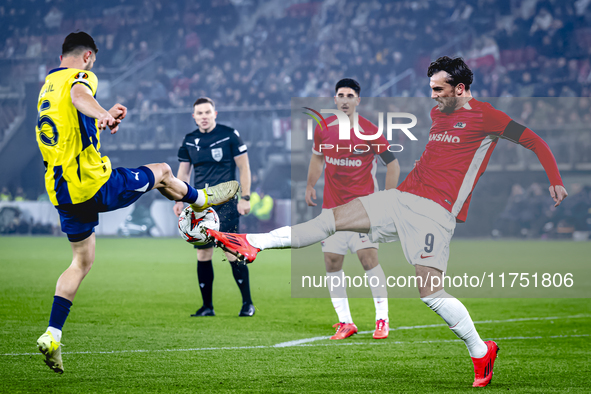
{"type": "MultiPolygon", "coordinates": [[[[355,135],[351,126],[351,139],[339,140],[339,121],[336,116],[326,119],[326,127],[314,130],[315,155],[324,155],[324,198],[322,208],[330,209],[358,197],[378,191],[376,179],[377,158],[388,148],[388,140],[380,135],[376,140],[364,141],[355,135]]],[[[359,132],[374,135],[378,128],[359,116],[359,132]]]]}

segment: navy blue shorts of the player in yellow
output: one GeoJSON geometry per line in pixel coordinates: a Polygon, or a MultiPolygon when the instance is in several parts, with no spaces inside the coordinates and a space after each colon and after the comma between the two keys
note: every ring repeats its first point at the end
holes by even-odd
{"type": "Polygon", "coordinates": [[[125,208],[154,187],[154,174],[148,167],[115,168],[111,177],[90,200],[80,204],[61,204],[62,231],[70,242],[79,242],[94,232],[99,212],[125,208]]]}

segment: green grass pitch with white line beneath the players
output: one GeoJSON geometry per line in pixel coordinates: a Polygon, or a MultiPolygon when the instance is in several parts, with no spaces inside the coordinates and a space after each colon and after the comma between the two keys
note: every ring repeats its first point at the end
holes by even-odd
{"type": "MultiPolygon", "coordinates": [[[[478,264],[474,250],[493,241],[452,242],[454,262],[478,264]]],[[[559,248],[589,261],[591,243],[498,241],[485,256],[547,260],[559,248]],[[492,255],[491,255],[492,253],[492,255]],[[533,257],[532,257],[533,253],[533,257]]],[[[320,248],[315,246],[318,264],[320,248]]],[[[392,328],[343,341],[316,338],[337,322],[329,299],[291,298],[289,251],[267,251],[250,265],[257,307],[238,318],[241,301],[227,262],[216,252],[213,318],[191,318],[201,305],[195,252],[180,239],[98,239],[97,258],[64,327],[58,375],[35,341],[47,326],[55,282],[69,265],[65,238],[0,238],[0,392],[473,392],[463,343],[418,297],[390,299],[392,328]],[[311,340],[310,338],[316,338],[311,340]],[[276,346],[296,340],[300,345],[276,346]]],[[[314,255],[314,254],[313,254],[314,255]]],[[[382,261],[406,270],[400,245],[382,261]],[[394,256],[394,257],[393,257],[394,256]]],[[[499,259],[501,259],[499,257],[499,259]]],[[[554,258],[554,257],[552,257],[554,258]]],[[[294,262],[295,264],[295,262],[294,262]]],[[[560,265],[560,261],[556,261],[560,265]]],[[[348,258],[345,270],[359,265],[348,258]]],[[[387,274],[390,274],[387,272],[387,274]]],[[[450,290],[450,293],[453,292],[450,290]]],[[[589,392],[589,299],[462,299],[483,338],[501,350],[487,392],[589,392]],[[512,320],[512,321],[507,321],[512,320]]],[[[351,299],[360,331],[374,328],[370,298],[351,299]]]]}

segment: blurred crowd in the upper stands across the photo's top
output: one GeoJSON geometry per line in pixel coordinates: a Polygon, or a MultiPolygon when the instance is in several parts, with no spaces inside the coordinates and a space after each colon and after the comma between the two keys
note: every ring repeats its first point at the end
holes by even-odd
{"type": "Polygon", "coordinates": [[[342,75],[371,96],[408,69],[381,94],[424,96],[426,65],[444,53],[469,60],[475,96],[580,97],[591,93],[589,3],[7,0],[0,59],[51,69],[64,35],[84,28],[99,46],[101,81],[133,71],[111,87],[113,100],[148,111],[203,95],[230,107],[289,105],[331,96],[342,75]]]}

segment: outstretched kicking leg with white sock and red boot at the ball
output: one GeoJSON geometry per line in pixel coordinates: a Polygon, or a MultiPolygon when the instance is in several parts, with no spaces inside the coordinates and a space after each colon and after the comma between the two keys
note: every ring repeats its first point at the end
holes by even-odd
{"type": "Polygon", "coordinates": [[[305,223],[285,226],[264,234],[228,234],[207,230],[225,251],[252,263],[265,249],[303,248],[320,242],[336,231],[369,232],[369,216],[359,199],[327,209],[305,223]]]}

